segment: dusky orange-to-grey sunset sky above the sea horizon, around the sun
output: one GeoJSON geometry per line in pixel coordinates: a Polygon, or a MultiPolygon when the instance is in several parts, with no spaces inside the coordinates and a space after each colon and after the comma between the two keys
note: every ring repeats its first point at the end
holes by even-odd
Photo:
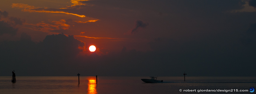
{"type": "Polygon", "coordinates": [[[2,0],[0,76],[255,76],[255,17],[256,0],[2,0]]]}

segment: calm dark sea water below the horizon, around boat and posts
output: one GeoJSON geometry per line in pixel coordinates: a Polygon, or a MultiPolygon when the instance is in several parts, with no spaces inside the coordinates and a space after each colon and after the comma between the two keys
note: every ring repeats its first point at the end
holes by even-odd
{"type": "MultiPolygon", "coordinates": [[[[246,94],[256,88],[256,77],[158,77],[164,83],[144,83],[149,77],[0,76],[0,94],[246,94]],[[179,90],[181,89],[182,92],[179,90]],[[196,90],[184,92],[183,90],[196,90]],[[198,92],[198,90],[233,92],[198,92]],[[234,92],[248,90],[247,92],[234,92]]],[[[254,91],[254,93],[256,93],[254,91]]],[[[251,93],[250,93],[251,94],[251,93]]]]}

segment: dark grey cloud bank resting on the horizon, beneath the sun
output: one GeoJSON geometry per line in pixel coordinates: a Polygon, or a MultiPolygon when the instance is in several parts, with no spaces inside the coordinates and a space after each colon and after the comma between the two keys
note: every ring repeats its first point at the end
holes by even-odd
{"type": "MultiPolygon", "coordinates": [[[[248,32],[255,36],[253,26],[248,32]]],[[[83,48],[85,43],[72,35],[50,35],[35,43],[22,33],[20,41],[0,43],[0,75],[10,76],[15,70],[17,76],[183,76],[184,71],[190,76],[255,76],[251,73],[256,65],[255,38],[246,37],[252,36],[247,33],[244,36],[241,45],[156,38],[148,43],[153,51],[123,47],[99,55],[88,52],[83,48]],[[249,44],[248,39],[252,41],[249,44]]]]}

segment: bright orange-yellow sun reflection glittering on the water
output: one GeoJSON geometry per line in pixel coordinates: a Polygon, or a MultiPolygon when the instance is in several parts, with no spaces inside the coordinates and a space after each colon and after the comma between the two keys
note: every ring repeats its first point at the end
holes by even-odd
{"type": "Polygon", "coordinates": [[[97,84],[95,78],[88,78],[88,93],[87,94],[98,94],[97,93],[97,84]]]}

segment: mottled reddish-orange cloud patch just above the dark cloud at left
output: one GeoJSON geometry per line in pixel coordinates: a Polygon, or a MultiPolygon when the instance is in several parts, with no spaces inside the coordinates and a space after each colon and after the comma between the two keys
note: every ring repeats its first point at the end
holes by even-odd
{"type": "Polygon", "coordinates": [[[50,21],[50,24],[44,23],[44,22],[39,22],[37,24],[26,24],[29,25],[30,27],[25,27],[29,28],[31,30],[39,30],[42,32],[47,32],[47,33],[52,33],[50,30],[60,30],[60,29],[68,29],[70,25],[65,24],[65,20],[60,20],[60,21],[50,21]]]}

